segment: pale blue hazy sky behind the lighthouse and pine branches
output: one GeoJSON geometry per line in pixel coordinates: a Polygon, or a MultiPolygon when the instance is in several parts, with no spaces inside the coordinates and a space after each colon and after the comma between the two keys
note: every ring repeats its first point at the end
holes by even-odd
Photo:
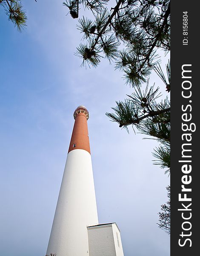
{"type": "MultiPolygon", "coordinates": [[[[6,256],[44,256],[78,105],[88,121],[100,223],[116,222],[125,256],[169,256],[158,229],[170,178],[152,164],[154,140],[129,134],[105,113],[132,89],[103,60],[81,68],[82,35],[62,1],[24,1],[17,32],[0,7],[0,248],[6,256]]],[[[155,74],[150,83],[163,86],[155,74]]]]}

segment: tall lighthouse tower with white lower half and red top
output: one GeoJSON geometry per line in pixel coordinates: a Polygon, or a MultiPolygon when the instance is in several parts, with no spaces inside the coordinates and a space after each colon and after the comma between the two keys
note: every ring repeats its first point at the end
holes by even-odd
{"type": "Polygon", "coordinates": [[[87,226],[98,224],[87,119],[74,111],[74,128],[60,187],[47,255],[89,256],[87,226]]]}

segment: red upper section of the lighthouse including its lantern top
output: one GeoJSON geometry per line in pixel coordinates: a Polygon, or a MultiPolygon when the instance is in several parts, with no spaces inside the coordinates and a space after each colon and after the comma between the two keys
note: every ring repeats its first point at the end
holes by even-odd
{"type": "Polygon", "coordinates": [[[69,144],[69,151],[83,149],[90,153],[88,124],[89,112],[84,106],[78,106],[74,111],[74,128],[69,144]]]}

